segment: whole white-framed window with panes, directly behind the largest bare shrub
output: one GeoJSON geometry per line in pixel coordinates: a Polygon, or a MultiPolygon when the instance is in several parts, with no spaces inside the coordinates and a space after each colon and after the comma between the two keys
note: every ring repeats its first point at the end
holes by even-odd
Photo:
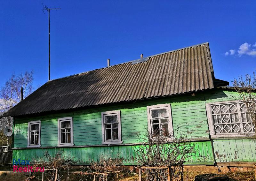
{"type": "Polygon", "coordinates": [[[172,135],[172,112],[170,104],[148,106],[148,129],[155,135],[172,135]]]}

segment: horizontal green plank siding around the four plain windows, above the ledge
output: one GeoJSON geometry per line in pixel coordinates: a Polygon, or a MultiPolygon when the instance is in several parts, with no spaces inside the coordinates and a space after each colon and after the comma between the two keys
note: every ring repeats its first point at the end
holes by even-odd
{"type": "Polygon", "coordinates": [[[75,146],[101,145],[102,128],[101,112],[121,110],[122,141],[124,144],[138,142],[148,129],[147,106],[171,103],[174,132],[188,130],[192,138],[208,138],[208,124],[204,105],[204,97],[174,96],[137,103],[126,103],[118,106],[100,107],[62,114],[52,114],[42,117],[16,118],[14,129],[14,148],[26,147],[28,136],[28,121],[41,120],[41,146],[56,147],[58,145],[58,118],[73,117],[73,134],[75,146]]]}

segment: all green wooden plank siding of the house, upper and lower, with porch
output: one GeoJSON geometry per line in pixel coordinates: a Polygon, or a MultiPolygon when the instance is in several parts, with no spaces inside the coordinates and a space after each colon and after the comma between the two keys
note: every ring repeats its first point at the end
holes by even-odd
{"type": "Polygon", "coordinates": [[[179,127],[182,131],[188,131],[190,138],[198,139],[194,142],[196,143],[196,148],[198,148],[198,153],[196,156],[190,157],[186,164],[212,165],[214,161],[252,162],[256,159],[255,149],[253,149],[256,146],[252,145],[249,140],[210,140],[205,103],[234,99],[238,99],[236,92],[214,89],[196,92],[195,96],[191,96],[191,94],[174,95],[139,100],[137,102],[102,105],[79,111],[67,111],[44,116],[15,117],[13,158],[31,160],[34,155],[43,157],[46,150],[51,154],[55,154],[58,150],[63,150],[64,153],[73,156],[78,164],[88,164],[90,159],[97,160],[99,155],[109,152],[111,154],[120,153],[125,165],[135,165],[137,163],[135,161],[136,153],[134,152],[134,147],[138,145],[133,144],[138,143],[138,135],[142,136],[148,129],[147,106],[170,103],[174,134],[179,127]],[[126,145],[97,146],[102,145],[101,112],[111,110],[121,110],[122,141],[126,145]],[[73,117],[74,146],[81,147],[57,147],[58,118],[61,117],[73,117]],[[43,148],[26,148],[28,122],[34,120],[41,120],[41,146],[43,148]],[[202,141],[199,141],[199,139],[202,141]],[[230,146],[227,147],[226,145],[228,144],[230,146]],[[245,149],[244,151],[241,150],[241,146],[245,149]],[[237,152],[236,155],[235,150],[237,152]],[[251,157],[253,154],[254,156],[251,157]],[[221,156],[218,157],[217,155],[221,156]]]}

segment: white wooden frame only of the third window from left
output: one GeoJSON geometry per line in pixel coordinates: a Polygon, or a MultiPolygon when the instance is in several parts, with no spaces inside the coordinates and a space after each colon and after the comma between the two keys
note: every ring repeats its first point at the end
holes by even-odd
{"type": "Polygon", "coordinates": [[[115,110],[115,111],[106,111],[101,113],[101,125],[102,125],[102,144],[108,145],[108,144],[122,144],[122,133],[121,133],[121,111],[115,110]],[[118,121],[118,140],[106,140],[105,139],[105,124],[104,124],[104,117],[106,115],[117,115],[117,121],[118,121]]]}

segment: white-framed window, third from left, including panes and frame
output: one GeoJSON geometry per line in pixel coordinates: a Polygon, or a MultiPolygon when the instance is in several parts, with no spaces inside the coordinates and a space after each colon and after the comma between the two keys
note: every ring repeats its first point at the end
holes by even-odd
{"type": "Polygon", "coordinates": [[[102,144],[121,144],[121,117],[119,111],[101,113],[102,144]]]}

